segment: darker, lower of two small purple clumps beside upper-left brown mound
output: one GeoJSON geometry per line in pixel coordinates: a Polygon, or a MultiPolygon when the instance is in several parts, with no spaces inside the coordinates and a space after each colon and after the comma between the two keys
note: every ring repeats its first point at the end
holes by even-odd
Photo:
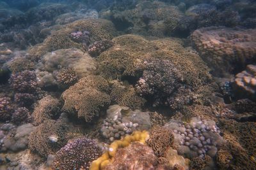
{"type": "Polygon", "coordinates": [[[111,46],[113,46],[113,41],[109,39],[103,39],[101,41],[95,41],[92,45],[89,46],[88,52],[92,57],[97,57],[100,53],[104,52],[111,46]]]}

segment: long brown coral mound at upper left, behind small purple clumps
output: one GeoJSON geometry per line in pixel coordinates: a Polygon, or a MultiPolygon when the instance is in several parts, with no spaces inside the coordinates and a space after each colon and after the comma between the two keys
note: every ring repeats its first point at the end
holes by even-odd
{"type": "Polygon", "coordinates": [[[44,43],[32,47],[28,51],[28,56],[33,60],[38,60],[47,52],[59,50],[62,48],[79,48],[84,50],[83,43],[72,41],[70,33],[77,31],[90,32],[90,43],[102,39],[112,39],[116,34],[114,25],[108,20],[86,19],[77,20],[67,25],[61,26],[57,31],[53,31],[44,43]]]}

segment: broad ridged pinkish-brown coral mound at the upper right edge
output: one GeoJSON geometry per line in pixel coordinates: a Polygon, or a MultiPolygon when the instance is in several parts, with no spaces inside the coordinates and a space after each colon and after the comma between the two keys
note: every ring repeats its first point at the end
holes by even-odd
{"type": "Polygon", "coordinates": [[[214,74],[243,69],[255,59],[256,29],[205,27],[191,34],[191,39],[214,74]]]}

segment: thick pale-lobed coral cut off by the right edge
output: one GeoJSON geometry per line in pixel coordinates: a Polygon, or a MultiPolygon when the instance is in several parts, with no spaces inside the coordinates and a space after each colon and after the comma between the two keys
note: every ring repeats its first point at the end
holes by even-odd
{"type": "Polygon", "coordinates": [[[256,100],[256,66],[247,65],[246,70],[236,74],[234,91],[237,97],[256,100]]]}

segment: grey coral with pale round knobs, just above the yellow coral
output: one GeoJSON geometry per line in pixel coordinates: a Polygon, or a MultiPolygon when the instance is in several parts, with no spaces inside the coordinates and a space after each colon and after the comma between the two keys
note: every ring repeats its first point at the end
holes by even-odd
{"type": "Polygon", "coordinates": [[[102,136],[111,142],[124,138],[134,131],[148,130],[151,127],[147,112],[132,111],[130,108],[119,105],[109,106],[107,117],[103,122],[100,131],[102,136]]]}

